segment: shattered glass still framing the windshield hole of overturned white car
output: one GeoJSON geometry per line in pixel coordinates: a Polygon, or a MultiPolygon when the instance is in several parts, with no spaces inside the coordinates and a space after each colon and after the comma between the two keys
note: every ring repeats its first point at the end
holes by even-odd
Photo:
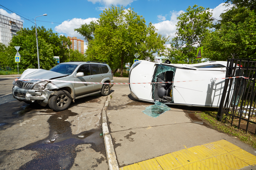
{"type": "MultiPolygon", "coordinates": [[[[162,73],[166,72],[166,71],[173,71],[173,78],[172,78],[172,82],[173,82],[176,68],[175,67],[166,66],[166,65],[158,65],[158,67],[156,69],[156,73],[155,73],[155,75],[153,77],[153,81],[152,82],[156,82],[157,78],[161,78],[162,80],[164,80],[164,77],[163,77],[164,74],[162,74],[162,73]]],[[[153,95],[153,99],[154,100],[156,100],[155,99],[155,94],[154,94],[155,93],[155,86],[156,86],[156,84],[154,83],[152,85],[152,88],[153,88],[152,89],[152,95],[153,95]]],[[[172,89],[173,89],[173,84],[172,84],[172,89]]],[[[173,92],[172,92],[172,101],[173,101],[173,92]]]]}

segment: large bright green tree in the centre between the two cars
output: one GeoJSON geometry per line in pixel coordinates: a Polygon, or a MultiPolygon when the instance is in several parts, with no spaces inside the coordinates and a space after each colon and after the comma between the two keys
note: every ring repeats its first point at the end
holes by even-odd
{"type": "Polygon", "coordinates": [[[153,60],[154,53],[163,51],[167,41],[156,28],[133,9],[111,6],[105,9],[96,22],[83,25],[76,31],[88,41],[86,57],[91,61],[106,62],[112,69],[133,63],[134,54],[140,59],[153,60]]]}

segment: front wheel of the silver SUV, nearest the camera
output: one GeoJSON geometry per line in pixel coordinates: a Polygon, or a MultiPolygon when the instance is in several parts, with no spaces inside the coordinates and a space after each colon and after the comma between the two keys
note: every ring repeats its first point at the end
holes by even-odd
{"type": "Polygon", "coordinates": [[[53,93],[48,101],[49,107],[54,111],[62,111],[69,107],[71,96],[66,90],[53,93]]]}

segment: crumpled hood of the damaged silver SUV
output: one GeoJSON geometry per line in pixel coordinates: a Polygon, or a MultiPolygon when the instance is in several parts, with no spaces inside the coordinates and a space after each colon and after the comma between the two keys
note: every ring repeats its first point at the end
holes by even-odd
{"type": "Polygon", "coordinates": [[[67,74],[61,74],[44,69],[27,69],[22,73],[20,79],[54,79],[63,76],[67,76],[67,74]]]}

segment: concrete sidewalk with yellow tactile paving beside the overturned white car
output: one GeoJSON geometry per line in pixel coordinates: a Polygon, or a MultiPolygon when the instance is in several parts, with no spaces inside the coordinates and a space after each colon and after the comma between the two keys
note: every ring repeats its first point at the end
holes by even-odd
{"type": "Polygon", "coordinates": [[[107,124],[120,169],[256,169],[254,148],[194,122],[182,110],[185,107],[170,106],[171,110],[153,118],[142,112],[151,104],[136,101],[128,86],[110,95],[107,124]],[[178,165],[171,166],[175,161],[178,165]]]}

